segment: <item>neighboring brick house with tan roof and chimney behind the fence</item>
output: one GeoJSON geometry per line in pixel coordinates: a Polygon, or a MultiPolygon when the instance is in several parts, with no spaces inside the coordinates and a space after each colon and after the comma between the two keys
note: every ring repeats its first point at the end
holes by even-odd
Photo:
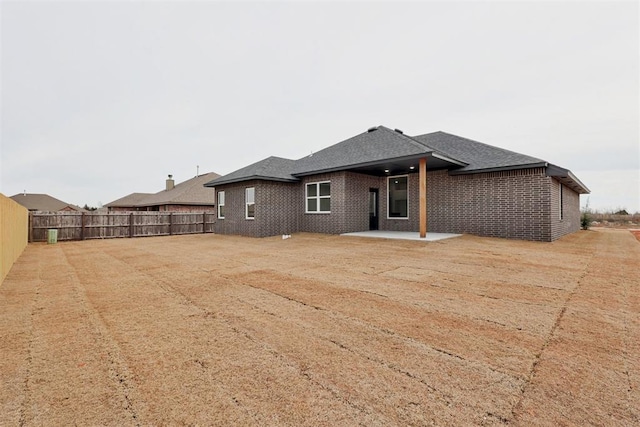
{"type": "Polygon", "coordinates": [[[113,211],[213,211],[215,209],[215,191],[203,184],[218,178],[217,173],[198,175],[187,181],[175,184],[169,175],[165,189],[157,193],[132,193],[121,199],[107,203],[105,207],[113,211]]]}

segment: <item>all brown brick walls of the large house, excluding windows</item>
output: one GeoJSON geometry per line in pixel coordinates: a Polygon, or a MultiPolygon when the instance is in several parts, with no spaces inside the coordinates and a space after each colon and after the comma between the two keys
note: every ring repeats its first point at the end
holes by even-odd
{"type": "MultiPolygon", "coordinates": [[[[226,218],[216,232],[263,237],[297,231],[339,234],[369,229],[369,189],[379,190],[379,228],[419,230],[419,177],[408,175],[408,218],[388,218],[387,177],[335,172],[304,177],[301,183],[251,181],[221,186],[226,218]],[[305,213],[305,185],[331,182],[331,212],[305,213]],[[244,189],[256,189],[256,215],[245,219],[244,189]]],[[[544,168],[449,175],[427,173],[429,232],[551,241],[577,231],[579,195],[564,187],[564,218],[559,220],[558,182],[544,168]]]]}

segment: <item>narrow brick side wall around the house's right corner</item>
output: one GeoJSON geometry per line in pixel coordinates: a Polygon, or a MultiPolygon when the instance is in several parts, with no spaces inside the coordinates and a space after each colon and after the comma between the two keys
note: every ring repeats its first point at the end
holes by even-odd
{"type": "Polygon", "coordinates": [[[565,234],[580,229],[580,195],[562,186],[562,219],[560,219],[560,182],[548,178],[551,186],[551,239],[556,240],[565,234]]]}

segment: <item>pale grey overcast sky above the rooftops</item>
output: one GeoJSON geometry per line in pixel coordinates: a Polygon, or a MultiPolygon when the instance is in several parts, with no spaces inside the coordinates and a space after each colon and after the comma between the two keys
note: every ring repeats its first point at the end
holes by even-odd
{"type": "Polygon", "coordinates": [[[632,2],[11,2],[0,192],[106,204],[385,125],[570,169],[640,211],[632,2]]]}

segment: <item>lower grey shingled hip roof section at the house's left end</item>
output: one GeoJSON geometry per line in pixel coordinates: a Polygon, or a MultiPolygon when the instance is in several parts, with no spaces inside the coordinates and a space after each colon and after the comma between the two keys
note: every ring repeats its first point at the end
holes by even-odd
{"type": "Polygon", "coordinates": [[[238,169],[235,172],[231,172],[223,177],[207,182],[205,186],[214,187],[220,184],[232,184],[234,182],[250,181],[253,179],[296,182],[298,179],[291,175],[291,171],[295,164],[295,160],[271,156],[249,166],[245,166],[242,169],[238,169]]]}

